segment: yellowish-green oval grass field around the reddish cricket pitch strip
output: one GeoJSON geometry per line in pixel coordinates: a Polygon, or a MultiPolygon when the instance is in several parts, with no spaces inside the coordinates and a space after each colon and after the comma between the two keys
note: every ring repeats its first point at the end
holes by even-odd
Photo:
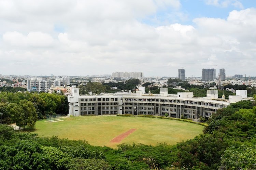
{"type": "Polygon", "coordinates": [[[84,116],[70,117],[65,121],[37,121],[35,131],[39,136],[58,136],[74,140],[86,140],[91,145],[115,148],[120,143],[144,143],[171,145],[194,138],[202,133],[203,126],[176,120],[141,117],[84,116]],[[116,136],[136,129],[120,143],[110,142],[116,136]]]}

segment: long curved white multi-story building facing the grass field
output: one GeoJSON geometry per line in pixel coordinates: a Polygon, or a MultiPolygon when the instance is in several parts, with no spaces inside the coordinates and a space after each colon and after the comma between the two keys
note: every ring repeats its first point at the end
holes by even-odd
{"type": "Polygon", "coordinates": [[[198,119],[210,117],[217,109],[227,107],[230,102],[242,100],[233,96],[230,101],[218,98],[217,90],[208,90],[207,97],[195,98],[193,92],[178,92],[168,95],[167,88],[161,88],[159,95],[136,93],[115,93],[101,95],[79,95],[79,88],[73,88],[68,96],[69,116],[85,115],[156,115],[198,119]]]}

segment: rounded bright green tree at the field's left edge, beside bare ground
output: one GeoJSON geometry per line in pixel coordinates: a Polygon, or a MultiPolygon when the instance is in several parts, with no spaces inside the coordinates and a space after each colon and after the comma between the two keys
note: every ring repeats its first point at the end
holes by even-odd
{"type": "Polygon", "coordinates": [[[32,128],[37,121],[37,112],[31,101],[21,100],[19,104],[10,103],[8,110],[12,121],[19,127],[24,126],[24,130],[26,126],[32,128]]]}

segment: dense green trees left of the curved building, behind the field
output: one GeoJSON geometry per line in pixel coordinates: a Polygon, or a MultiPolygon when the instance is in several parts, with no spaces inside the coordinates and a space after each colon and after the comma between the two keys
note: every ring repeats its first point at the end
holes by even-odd
{"type": "Polygon", "coordinates": [[[67,114],[66,96],[48,93],[0,92],[0,123],[16,123],[20,127],[35,125],[47,115],[67,114]]]}

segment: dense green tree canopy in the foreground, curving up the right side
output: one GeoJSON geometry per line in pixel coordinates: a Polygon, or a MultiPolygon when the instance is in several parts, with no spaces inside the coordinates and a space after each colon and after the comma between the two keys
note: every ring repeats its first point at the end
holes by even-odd
{"type": "Polygon", "coordinates": [[[0,169],[256,169],[255,120],[256,106],[241,101],[219,109],[194,139],[116,149],[0,125],[0,169]]]}

